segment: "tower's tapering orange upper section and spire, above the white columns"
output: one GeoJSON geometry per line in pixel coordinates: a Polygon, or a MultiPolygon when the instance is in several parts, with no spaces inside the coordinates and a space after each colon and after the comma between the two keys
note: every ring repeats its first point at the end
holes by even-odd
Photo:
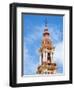
{"type": "Polygon", "coordinates": [[[44,49],[48,49],[48,50],[52,50],[53,44],[52,41],[50,39],[50,33],[48,31],[48,26],[47,26],[47,18],[45,19],[45,28],[44,28],[44,32],[43,32],[43,39],[42,39],[42,45],[40,48],[40,51],[42,52],[44,49]]]}

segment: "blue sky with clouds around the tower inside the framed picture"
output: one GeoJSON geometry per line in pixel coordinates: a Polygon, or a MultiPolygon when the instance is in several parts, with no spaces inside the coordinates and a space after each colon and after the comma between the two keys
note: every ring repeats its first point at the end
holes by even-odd
{"type": "Polygon", "coordinates": [[[41,46],[42,33],[45,27],[45,18],[47,18],[51,40],[56,48],[54,61],[57,63],[57,72],[62,73],[64,61],[63,58],[61,58],[63,53],[63,16],[23,14],[22,18],[24,75],[36,74],[37,66],[39,64],[38,50],[41,46]]]}

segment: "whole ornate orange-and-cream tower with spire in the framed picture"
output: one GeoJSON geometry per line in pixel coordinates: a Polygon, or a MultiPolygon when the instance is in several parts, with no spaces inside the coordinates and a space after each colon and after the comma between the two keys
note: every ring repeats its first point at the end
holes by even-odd
{"type": "Polygon", "coordinates": [[[45,28],[41,47],[39,49],[40,60],[37,68],[38,74],[54,74],[56,73],[56,63],[53,60],[55,47],[52,44],[50,33],[48,32],[47,20],[45,21],[45,28]]]}

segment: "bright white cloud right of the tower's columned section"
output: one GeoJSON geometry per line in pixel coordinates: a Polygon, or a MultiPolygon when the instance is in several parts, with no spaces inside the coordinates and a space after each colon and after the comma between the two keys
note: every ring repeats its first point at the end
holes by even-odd
{"type": "Polygon", "coordinates": [[[57,64],[57,73],[63,73],[64,65],[64,43],[60,42],[55,45],[54,62],[57,64]]]}

